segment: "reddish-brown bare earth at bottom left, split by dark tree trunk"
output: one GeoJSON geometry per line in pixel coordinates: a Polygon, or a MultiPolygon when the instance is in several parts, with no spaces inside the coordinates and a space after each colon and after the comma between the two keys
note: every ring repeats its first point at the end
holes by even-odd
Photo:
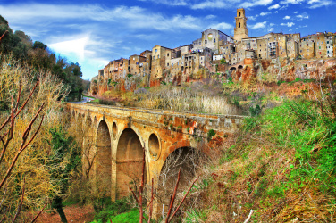
{"type": "MultiPolygon", "coordinates": [[[[63,208],[68,222],[88,223],[94,219],[95,211],[91,205],[80,206],[74,204],[63,208]]],[[[38,217],[38,223],[62,223],[61,218],[57,212],[46,213],[43,212],[38,217]]]]}

